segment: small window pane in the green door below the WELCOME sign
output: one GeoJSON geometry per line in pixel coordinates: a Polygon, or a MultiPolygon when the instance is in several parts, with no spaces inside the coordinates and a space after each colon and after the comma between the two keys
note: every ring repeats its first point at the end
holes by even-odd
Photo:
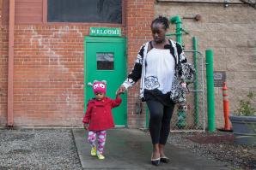
{"type": "Polygon", "coordinates": [[[97,69],[113,70],[113,53],[97,53],[97,69]]]}

